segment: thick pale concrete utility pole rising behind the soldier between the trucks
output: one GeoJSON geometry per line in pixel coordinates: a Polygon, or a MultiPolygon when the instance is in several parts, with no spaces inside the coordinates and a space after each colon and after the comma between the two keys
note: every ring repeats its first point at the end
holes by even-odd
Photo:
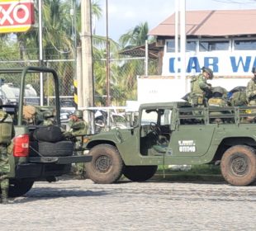
{"type": "MultiPolygon", "coordinates": [[[[82,84],[82,91],[78,92],[78,105],[82,107],[94,106],[94,86],[92,74],[92,17],[91,1],[81,1],[82,14],[82,77],[78,77],[78,84],[82,84]]],[[[79,88],[78,88],[79,89],[79,88]]]]}

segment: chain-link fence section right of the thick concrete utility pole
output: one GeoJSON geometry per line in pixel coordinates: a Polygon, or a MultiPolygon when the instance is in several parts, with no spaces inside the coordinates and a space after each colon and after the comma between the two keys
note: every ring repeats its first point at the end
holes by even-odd
{"type": "MultiPolygon", "coordinates": [[[[137,100],[137,77],[145,75],[145,57],[110,59],[110,97],[112,106],[125,106],[126,101],[137,100]]],[[[106,59],[94,60],[95,102],[107,105],[106,59]],[[101,67],[99,69],[98,67],[101,67]]],[[[149,59],[149,73],[157,73],[157,59],[149,59]]]]}

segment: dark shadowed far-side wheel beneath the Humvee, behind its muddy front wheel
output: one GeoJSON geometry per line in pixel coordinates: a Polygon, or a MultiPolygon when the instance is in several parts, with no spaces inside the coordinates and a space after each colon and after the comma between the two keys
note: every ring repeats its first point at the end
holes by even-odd
{"type": "Polygon", "coordinates": [[[130,181],[146,181],[154,176],[158,169],[155,165],[150,166],[125,166],[123,174],[130,181]]]}

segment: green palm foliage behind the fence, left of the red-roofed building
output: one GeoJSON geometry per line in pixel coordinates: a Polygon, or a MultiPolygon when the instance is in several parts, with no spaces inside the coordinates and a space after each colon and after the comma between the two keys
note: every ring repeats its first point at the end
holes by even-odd
{"type": "MultiPolygon", "coordinates": [[[[35,1],[36,21],[38,22],[38,1],[35,1]]],[[[92,0],[92,24],[102,16],[99,0],[92,0]]],[[[75,47],[80,45],[81,31],[81,2],[70,0],[44,0],[43,1],[43,48],[44,59],[74,59],[75,47]],[[72,16],[70,9],[76,6],[76,14],[72,16]],[[74,24],[76,21],[76,24],[74,24]],[[76,28],[74,26],[76,25],[76,28]],[[74,36],[76,35],[76,37],[74,36]],[[75,40],[76,38],[76,40],[75,40]]],[[[37,24],[36,24],[37,26],[37,24]]],[[[0,35],[1,59],[4,60],[31,60],[38,59],[38,28],[34,27],[26,33],[15,35],[0,35]]],[[[92,28],[93,29],[93,28],[92,28]]],[[[126,100],[136,100],[136,76],[144,74],[144,60],[122,60],[119,54],[123,48],[145,45],[149,31],[147,22],[140,23],[121,35],[119,42],[109,38],[110,48],[110,88],[111,104],[123,106],[126,100]]],[[[107,79],[107,38],[100,35],[92,36],[93,45],[93,78],[95,101],[97,105],[105,105],[106,79],[107,79]]],[[[59,77],[61,86],[69,86],[68,78],[73,76],[73,67],[59,63],[59,77]]],[[[155,68],[149,67],[149,73],[155,73],[155,68]]],[[[46,83],[45,83],[46,84],[46,83]]],[[[70,88],[70,87],[69,87],[70,88]]],[[[50,92],[54,91],[48,87],[50,92]]],[[[72,94],[70,89],[65,94],[72,94]]]]}

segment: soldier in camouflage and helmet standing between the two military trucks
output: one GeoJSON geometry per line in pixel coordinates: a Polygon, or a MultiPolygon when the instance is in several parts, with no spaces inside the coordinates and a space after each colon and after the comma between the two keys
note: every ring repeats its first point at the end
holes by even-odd
{"type": "MultiPolygon", "coordinates": [[[[81,149],[83,148],[83,135],[88,134],[88,124],[86,121],[83,120],[83,111],[74,111],[73,115],[71,115],[69,118],[69,126],[69,133],[75,136],[75,148],[78,150],[77,153],[78,155],[82,155],[83,150],[81,149]]],[[[84,163],[77,163],[76,168],[77,169],[75,173],[83,177],[85,173],[84,163]]]]}

